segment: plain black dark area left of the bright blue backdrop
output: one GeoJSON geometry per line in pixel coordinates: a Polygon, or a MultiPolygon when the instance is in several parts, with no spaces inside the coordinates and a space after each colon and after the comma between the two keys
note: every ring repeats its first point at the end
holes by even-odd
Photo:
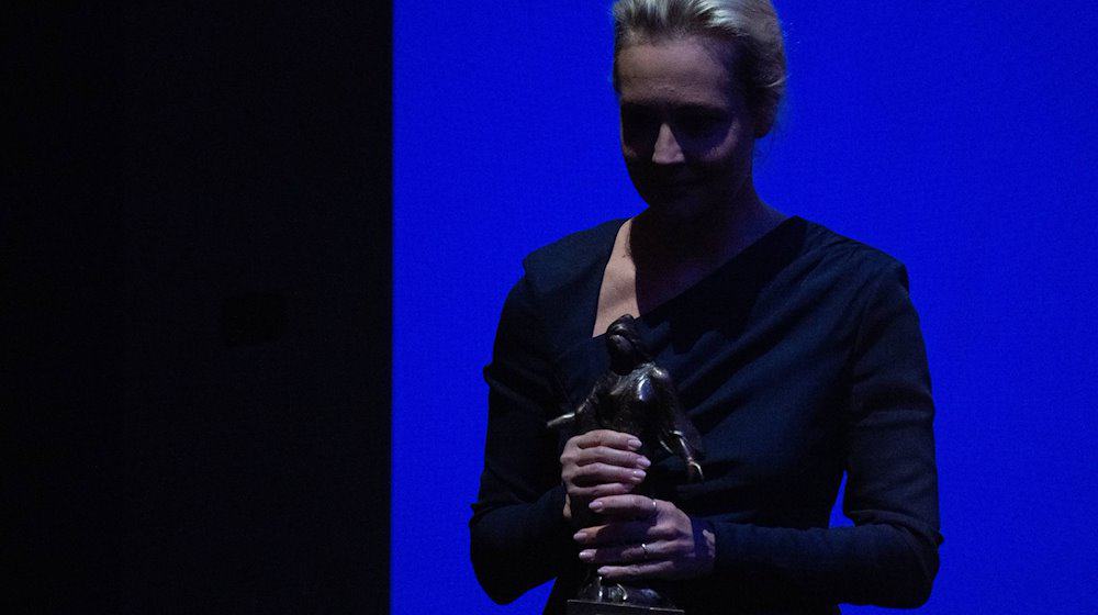
{"type": "Polygon", "coordinates": [[[390,8],[24,21],[4,600],[385,612],[390,8]]]}

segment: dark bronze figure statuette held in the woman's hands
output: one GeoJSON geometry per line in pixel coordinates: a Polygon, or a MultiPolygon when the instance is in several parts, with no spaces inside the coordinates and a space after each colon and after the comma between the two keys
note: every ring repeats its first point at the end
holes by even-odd
{"type": "MultiPolygon", "coordinates": [[[[683,411],[671,376],[654,362],[643,347],[632,316],[614,321],[606,329],[610,369],[595,382],[587,398],[574,411],[549,422],[549,427],[571,426],[575,434],[592,429],[613,429],[637,436],[649,455],[650,443],[658,443],[686,465],[687,480],[703,479],[701,436],[683,411]]],[[[650,495],[645,483],[634,493],[650,495]]],[[[600,525],[598,514],[585,505],[572,508],[578,527],[600,525]]],[[[568,615],[680,614],[665,596],[648,585],[607,583],[589,567],[586,579],[575,599],[568,601],[568,615]]]]}

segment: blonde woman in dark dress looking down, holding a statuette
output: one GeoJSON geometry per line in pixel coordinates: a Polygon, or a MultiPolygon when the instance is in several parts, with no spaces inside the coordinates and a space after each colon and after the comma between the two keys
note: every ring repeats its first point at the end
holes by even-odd
{"type": "Polygon", "coordinates": [[[621,150],[648,206],[529,255],[507,297],[470,522],[481,584],[509,602],[556,578],[546,613],[589,564],[663,583],[690,614],[922,604],[941,536],[918,316],[903,265],[755,193],[784,83],[773,7],[614,15],[621,150]],[[600,337],[623,314],[703,435],[702,483],[627,434],[545,428],[606,370],[600,337]],[[854,527],[829,528],[843,471],[854,527]],[[603,525],[574,527],[574,506],[603,525]]]}

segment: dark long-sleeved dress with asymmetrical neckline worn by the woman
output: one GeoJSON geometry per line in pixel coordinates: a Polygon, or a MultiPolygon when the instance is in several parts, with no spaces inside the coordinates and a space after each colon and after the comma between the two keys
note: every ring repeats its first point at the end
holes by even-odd
{"type": "MultiPolygon", "coordinates": [[[[529,255],[503,308],[470,521],[473,567],[497,602],[557,578],[546,613],[563,613],[583,571],[562,516],[565,438],[545,423],[608,367],[591,327],[623,223],[529,255]]],[[[815,614],[927,600],[942,540],[934,410],[903,265],[794,216],[638,328],[706,450],[701,484],[665,454],[647,479],[714,524],[714,573],[672,583],[680,606],[815,614]],[[843,471],[854,527],[829,528],[843,471]]]]}

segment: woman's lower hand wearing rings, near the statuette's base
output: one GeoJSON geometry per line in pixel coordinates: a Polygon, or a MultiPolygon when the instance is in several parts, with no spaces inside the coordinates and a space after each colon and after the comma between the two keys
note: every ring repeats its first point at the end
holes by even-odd
{"type": "Polygon", "coordinates": [[[591,510],[612,519],[575,533],[580,559],[598,566],[607,581],[692,579],[713,571],[717,556],[712,525],[671,502],[646,495],[609,495],[591,510]]]}

